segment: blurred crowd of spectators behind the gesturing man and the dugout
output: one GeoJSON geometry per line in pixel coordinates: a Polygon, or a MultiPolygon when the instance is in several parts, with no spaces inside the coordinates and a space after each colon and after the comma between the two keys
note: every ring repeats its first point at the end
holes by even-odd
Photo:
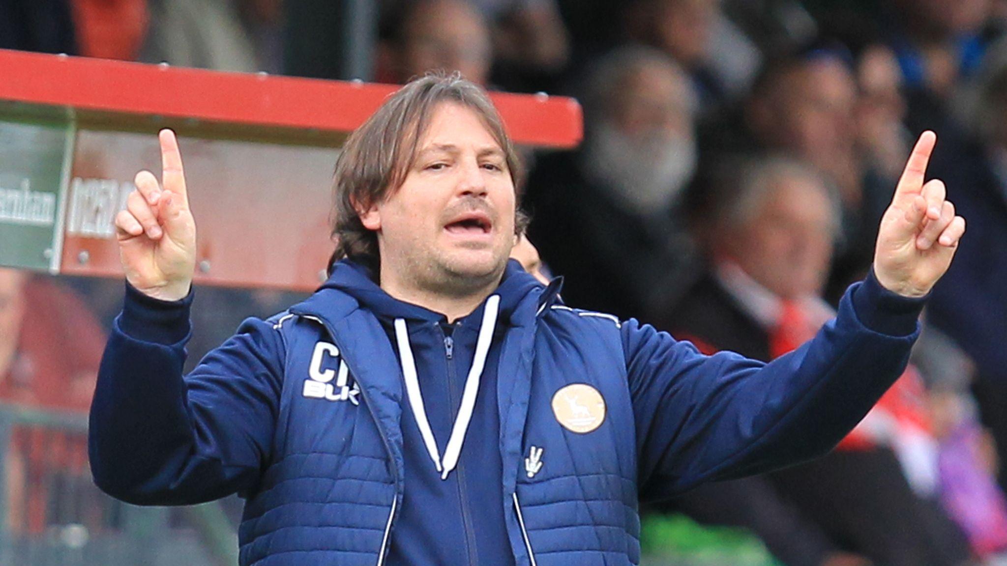
{"type": "MultiPolygon", "coordinates": [[[[315,4],[2,0],[0,47],[318,76],[323,65],[304,54],[324,57],[346,26],[307,25],[315,4]]],[[[895,387],[821,460],[648,509],[748,529],[787,566],[1007,564],[1007,1],[373,7],[367,79],[442,68],[581,102],[579,148],[523,150],[543,269],[564,276],[567,303],[635,316],[708,352],[769,361],[811,337],[869,272],[909,147],[937,131],[927,176],[945,180],[968,233],[895,387]]],[[[80,409],[44,392],[90,387],[71,379],[94,372],[101,343],[61,358],[74,368],[31,366],[44,359],[33,358],[39,340],[60,331],[32,327],[81,323],[22,324],[32,293],[70,293],[36,280],[0,275],[0,399],[80,409]],[[54,375],[65,383],[45,383],[54,375]]],[[[193,358],[291,298],[206,293],[219,296],[195,311],[193,358]]],[[[106,321],[116,309],[114,299],[92,304],[106,321]]]]}

